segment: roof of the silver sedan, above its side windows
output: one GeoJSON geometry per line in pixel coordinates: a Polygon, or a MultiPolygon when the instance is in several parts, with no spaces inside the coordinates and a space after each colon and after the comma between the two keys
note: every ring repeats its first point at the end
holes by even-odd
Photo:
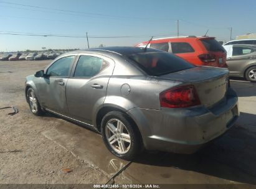
{"type": "MultiPolygon", "coordinates": [[[[141,47],[103,47],[103,48],[90,48],[87,50],[76,50],[75,52],[116,53],[118,55],[130,55],[133,53],[145,52],[145,48],[141,48],[141,47]]],[[[162,52],[162,51],[153,49],[153,48],[147,48],[146,52],[162,52]]]]}

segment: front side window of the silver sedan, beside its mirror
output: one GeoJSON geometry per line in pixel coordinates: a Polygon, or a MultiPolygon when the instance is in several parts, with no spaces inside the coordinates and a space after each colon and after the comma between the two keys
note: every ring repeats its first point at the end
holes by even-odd
{"type": "Polygon", "coordinates": [[[74,60],[75,56],[60,58],[48,68],[46,74],[49,76],[69,76],[69,70],[74,60]]]}

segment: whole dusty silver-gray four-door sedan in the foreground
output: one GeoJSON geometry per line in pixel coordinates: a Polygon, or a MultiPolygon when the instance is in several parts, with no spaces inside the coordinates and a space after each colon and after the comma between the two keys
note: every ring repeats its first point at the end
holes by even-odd
{"type": "Polygon", "coordinates": [[[196,67],[152,48],[107,47],[60,55],[26,78],[33,114],[101,132],[131,160],[143,149],[191,154],[234,125],[237,94],[224,68],[196,67]]]}

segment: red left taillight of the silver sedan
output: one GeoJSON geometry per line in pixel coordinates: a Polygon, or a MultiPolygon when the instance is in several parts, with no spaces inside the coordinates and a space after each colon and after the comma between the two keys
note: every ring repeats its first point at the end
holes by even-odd
{"type": "Polygon", "coordinates": [[[193,85],[179,86],[160,94],[160,104],[164,108],[186,108],[201,104],[193,85]]]}

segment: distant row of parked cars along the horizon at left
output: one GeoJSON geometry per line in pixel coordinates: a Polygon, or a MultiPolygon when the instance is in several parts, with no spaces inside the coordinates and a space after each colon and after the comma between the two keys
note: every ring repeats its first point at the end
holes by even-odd
{"type": "Polygon", "coordinates": [[[60,53],[4,53],[0,55],[0,60],[47,60],[58,57],[60,53]]]}

